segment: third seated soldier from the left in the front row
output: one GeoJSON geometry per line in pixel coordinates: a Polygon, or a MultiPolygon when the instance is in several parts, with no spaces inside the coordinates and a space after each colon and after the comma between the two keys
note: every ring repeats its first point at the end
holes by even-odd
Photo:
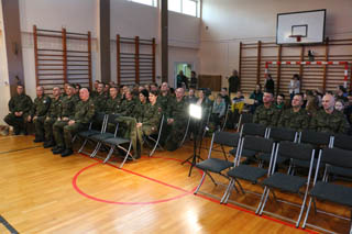
{"type": "MultiPolygon", "coordinates": [[[[67,89],[67,87],[66,87],[67,89]]],[[[57,121],[62,112],[62,90],[58,87],[53,88],[53,99],[51,108],[46,114],[44,121],[45,143],[44,148],[48,148],[55,145],[53,125],[57,121]]]]}

